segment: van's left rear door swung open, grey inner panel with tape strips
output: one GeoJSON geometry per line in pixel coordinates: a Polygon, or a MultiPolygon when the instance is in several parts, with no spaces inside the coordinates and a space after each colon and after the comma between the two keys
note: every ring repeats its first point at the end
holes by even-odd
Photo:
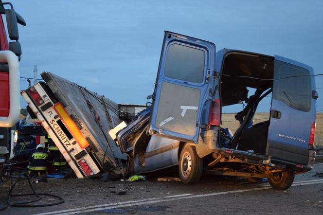
{"type": "Polygon", "coordinates": [[[149,134],[197,142],[203,98],[215,68],[215,44],[165,32],[149,134]]]}

